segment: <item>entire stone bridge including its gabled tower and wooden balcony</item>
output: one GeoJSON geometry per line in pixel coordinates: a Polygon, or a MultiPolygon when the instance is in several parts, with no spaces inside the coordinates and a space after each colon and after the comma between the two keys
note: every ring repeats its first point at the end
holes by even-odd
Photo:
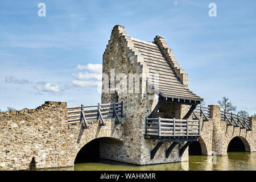
{"type": "Polygon", "coordinates": [[[115,26],[102,67],[101,103],[121,102],[121,114],[115,105],[102,111],[99,104],[96,112],[86,113],[87,106],[77,112],[54,101],[1,112],[0,168],[70,167],[92,153],[147,165],[187,161],[189,153],[256,150],[255,118],[236,121],[216,105],[196,114],[203,98],[188,89],[188,75],[161,36],[144,42],[115,26]]]}

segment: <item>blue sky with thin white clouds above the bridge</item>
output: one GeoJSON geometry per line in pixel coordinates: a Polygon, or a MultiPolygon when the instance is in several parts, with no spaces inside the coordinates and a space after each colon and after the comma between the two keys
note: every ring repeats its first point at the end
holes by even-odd
{"type": "Polygon", "coordinates": [[[112,28],[121,24],[147,42],[163,36],[206,104],[226,96],[254,114],[255,7],[256,1],[1,1],[0,109],[100,102],[93,65],[102,63],[112,28]],[[38,16],[41,2],[46,17],[38,16]],[[216,17],[208,15],[212,2],[216,17]],[[74,84],[85,72],[88,84],[74,84]]]}

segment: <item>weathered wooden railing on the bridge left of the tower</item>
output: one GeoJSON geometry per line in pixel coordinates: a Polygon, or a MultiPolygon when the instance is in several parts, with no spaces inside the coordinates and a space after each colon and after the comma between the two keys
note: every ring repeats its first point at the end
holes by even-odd
{"type": "Polygon", "coordinates": [[[123,102],[113,102],[110,104],[98,104],[89,106],[68,107],[68,123],[84,123],[88,128],[87,121],[100,120],[101,126],[105,126],[104,119],[116,118],[115,123],[121,123],[120,118],[123,115],[123,102]],[[95,107],[95,108],[93,108],[95,107]],[[85,109],[93,108],[93,109],[85,109]]]}

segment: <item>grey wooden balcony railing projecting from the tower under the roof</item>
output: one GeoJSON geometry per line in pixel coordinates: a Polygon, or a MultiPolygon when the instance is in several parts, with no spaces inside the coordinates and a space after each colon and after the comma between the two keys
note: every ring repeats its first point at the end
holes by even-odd
{"type": "Polygon", "coordinates": [[[146,118],[145,134],[158,137],[200,136],[200,119],[146,118]]]}

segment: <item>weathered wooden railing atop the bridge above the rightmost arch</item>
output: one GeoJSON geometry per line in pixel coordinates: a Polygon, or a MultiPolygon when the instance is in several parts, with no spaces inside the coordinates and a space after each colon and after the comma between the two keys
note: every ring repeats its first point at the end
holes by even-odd
{"type": "Polygon", "coordinates": [[[241,127],[242,129],[250,130],[250,119],[242,117],[238,114],[228,113],[221,110],[221,120],[226,121],[229,125],[234,125],[234,127],[241,127]]]}

